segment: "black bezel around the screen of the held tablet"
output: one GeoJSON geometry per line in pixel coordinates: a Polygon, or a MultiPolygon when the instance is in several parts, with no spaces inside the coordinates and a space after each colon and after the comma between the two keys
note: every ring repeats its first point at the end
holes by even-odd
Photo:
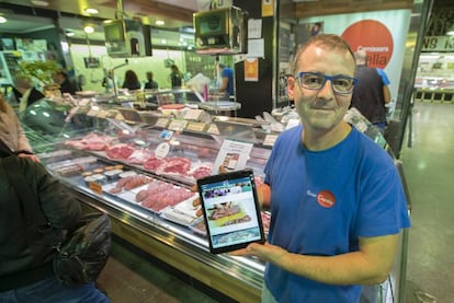
{"type": "Polygon", "coordinates": [[[201,205],[202,205],[202,210],[203,210],[203,218],[204,218],[204,222],[205,222],[205,226],[206,226],[206,234],[208,237],[208,243],[209,243],[209,252],[212,254],[223,254],[223,253],[228,253],[228,252],[232,252],[232,250],[237,250],[237,249],[241,249],[247,247],[250,243],[261,243],[263,244],[265,242],[265,234],[263,231],[263,223],[262,223],[262,215],[261,215],[261,207],[259,203],[259,199],[258,199],[258,195],[257,195],[257,186],[254,183],[254,176],[253,176],[253,172],[250,168],[246,168],[246,170],[241,170],[241,171],[235,171],[235,172],[229,172],[229,173],[225,173],[225,174],[218,174],[218,175],[213,175],[213,176],[207,176],[204,178],[200,178],[197,179],[197,189],[198,189],[198,196],[201,199],[201,205]],[[231,179],[238,179],[238,178],[250,178],[251,180],[251,189],[252,189],[252,195],[253,195],[253,205],[254,205],[254,212],[257,215],[257,222],[258,222],[258,226],[259,231],[260,231],[260,238],[258,240],[248,240],[246,242],[242,243],[236,243],[236,244],[231,244],[231,245],[227,245],[227,246],[222,246],[222,247],[214,247],[213,246],[213,238],[212,238],[212,231],[211,231],[211,226],[208,224],[208,209],[206,209],[205,207],[205,199],[203,197],[203,190],[202,190],[202,186],[203,185],[209,185],[209,184],[216,184],[216,183],[220,183],[220,182],[228,182],[231,179]]]}

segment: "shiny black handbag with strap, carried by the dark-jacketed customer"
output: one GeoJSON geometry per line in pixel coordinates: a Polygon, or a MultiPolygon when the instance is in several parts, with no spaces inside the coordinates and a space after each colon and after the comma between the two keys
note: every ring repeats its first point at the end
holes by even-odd
{"type": "MultiPolygon", "coordinates": [[[[3,167],[21,200],[25,220],[34,230],[42,233],[42,226],[52,228],[52,224],[44,215],[38,198],[33,195],[31,187],[16,188],[14,186],[15,184],[26,185],[26,180],[23,173],[18,172],[12,165],[12,161],[15,161],[12,158],[2,160],[3,167]]],[[[58,252],[53,260],[57,279],[67,285],[94,282],[107,261],[112,245],[111,233],[111,221],[107,214],[102,212],[86,214],[79,224],[67,232],[63,242],[54,245],[58,252]]],[[[45,238],[44,234],[43,238],[45,238]]],[[[59,240],[54,238],[52,243],[59,240]]]]}

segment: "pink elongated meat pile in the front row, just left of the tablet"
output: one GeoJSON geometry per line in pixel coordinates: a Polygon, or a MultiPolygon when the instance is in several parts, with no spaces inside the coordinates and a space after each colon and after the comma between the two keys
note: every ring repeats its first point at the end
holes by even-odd
{"type": "Polygon", "coordinates": [[[141,201],[141,206],[154,211],[161,211],[163,208],[178,205],[179,202],[184,201],[194,195],[194,193],[185,188],[177,187],[166,191],[149,195],[141,201]]]}

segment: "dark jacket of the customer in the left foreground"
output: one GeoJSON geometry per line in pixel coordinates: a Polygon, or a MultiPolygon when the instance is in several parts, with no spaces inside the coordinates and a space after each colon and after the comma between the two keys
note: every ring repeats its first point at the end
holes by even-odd
{"type": "Polygon", "coordinates": [[[0,291],[5,291],[53,275],[52,260],[56,250],[52,245],[60,240],[63,230],[80,221],[82,211],[79,202],[63,191],[60,183],[42,164],[29,159],[1,158],[0,180],[0,291]],[[24,173],[23,184],[10,184],[5,161],[24,173]],[[27,224],[15,188],[31,190],[32,197],[38,197],[36,202],[52,228],[43,226],[43,232],[38,233],[27,224]]]}

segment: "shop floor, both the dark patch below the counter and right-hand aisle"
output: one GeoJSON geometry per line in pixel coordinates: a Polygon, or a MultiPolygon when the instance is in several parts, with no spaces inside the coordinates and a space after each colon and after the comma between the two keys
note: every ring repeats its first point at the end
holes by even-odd
{"type": "MultiPolygon", "coordinates": [[[[417,103],[412,126],[412,147],[407,147],[406,139],[400,154],[412,200],[405,303],[451,303],[454,302],[454,104],[417,103]]],[[[124,243],[115,243],[99,283],[113,303],[229,302],[124,243]]]]}

